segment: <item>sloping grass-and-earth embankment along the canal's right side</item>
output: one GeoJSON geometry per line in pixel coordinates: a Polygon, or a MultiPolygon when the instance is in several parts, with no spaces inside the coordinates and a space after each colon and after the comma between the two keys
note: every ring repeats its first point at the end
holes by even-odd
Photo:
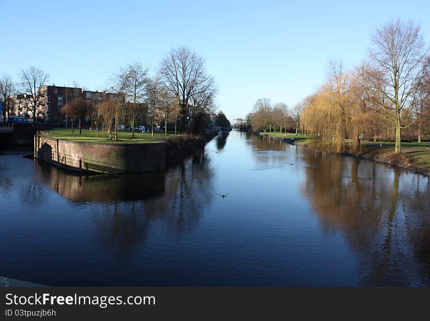
{"type": "MultiPolygon", "coordinates": [[[[284,143],[298,145],[305,148],[313,148],[321,150],[318,145],[309,143],[305,137],[280,137],[274,136],[271,133],[259,133],[263,136],[270,136],[273,139],[283,141],[284,143]],[[298,140],[298,138],[300,140],[298,140]]],[[[347,156],[360,157],[372,161],[396,166],[409,171],[414,171],[425,176],[430,176],[430,143],[429,146],[423,145],[423,148],[408,147],[402,148],[402,155],[399,157],[394,153],[394,147],[384,144],[363,143],[358,152],[343,152],[347,156]]]]}

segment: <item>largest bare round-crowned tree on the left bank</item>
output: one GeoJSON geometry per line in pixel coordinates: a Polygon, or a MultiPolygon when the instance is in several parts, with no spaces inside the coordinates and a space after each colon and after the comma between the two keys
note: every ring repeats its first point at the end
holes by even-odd
{"type": "Polygon", "coordinates": [[[180,101],[182,132],[185,131],[187,120],[191,119],[191,97],[206,92],[213,83],[213,77],[206,72],[205,62],[205,59],[188,47],[172,48],[161,61],[161,81],[180,101]]]}

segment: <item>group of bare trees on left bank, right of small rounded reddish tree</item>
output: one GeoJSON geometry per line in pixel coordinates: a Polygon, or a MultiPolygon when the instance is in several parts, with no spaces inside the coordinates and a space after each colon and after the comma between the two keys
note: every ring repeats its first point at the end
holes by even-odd
{"type": "Polygon", "coordinates": [[[205,68],[205,59],[187,47],[173,48],[161,61],[157,74],[139,62],[127,64],[111,79],[110,99],[94,108],[94,120],[105,128],[129,121],[134,138],[136,119],[151,124],[164,123],[174,131],[201,133],[209,127],[215,110],[217,89],[214,77],[205,68]],[[125,97],[125,101],[122,99],[125,97]]]}

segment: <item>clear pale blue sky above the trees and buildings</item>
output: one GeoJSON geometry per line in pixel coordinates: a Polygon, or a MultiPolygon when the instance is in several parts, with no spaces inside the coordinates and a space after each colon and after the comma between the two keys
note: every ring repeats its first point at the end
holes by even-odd
{"type": "Polygon", "coordinates": [[[258,98],[293,106],[321,85],[330,59],[359,64],[390,19],[420,23],[430,43],[428,0],[0,0],[0,17],[0,76],[18,80],[34,65],[49,84],[103,90],[119,66],[140,60],[155,74],[185,45],[207,59],[230,121],[258,98]]]}

